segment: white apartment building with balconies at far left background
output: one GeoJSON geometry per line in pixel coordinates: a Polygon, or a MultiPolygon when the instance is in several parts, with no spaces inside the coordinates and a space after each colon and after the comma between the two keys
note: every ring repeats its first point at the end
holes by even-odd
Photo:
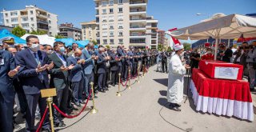
{"type": "Polygon", "coordinates": [[[5,26],[21,26],[25,30],[45,30],[47,34],[58,34],[58,15],[37,6],[26,6],[24,10],[2,10],[5,26]]]}

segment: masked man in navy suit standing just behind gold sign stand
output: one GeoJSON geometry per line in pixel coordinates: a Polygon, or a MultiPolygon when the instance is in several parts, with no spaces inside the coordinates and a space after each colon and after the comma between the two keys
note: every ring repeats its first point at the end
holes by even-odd
{"type": "MultiPolygon", "coordinates": [[[[54,63],[49,64],[47,54],[39,50],[39,39],[34,35],[26,38],[29,47],[15,55],[15,62],[20,67],[18,76],[22,82],[22,88],[26,94],[26,131],[34,131],[34,115],[37,104],[40,108],[41,118],[46,110],[46,98],[41,97],[40,90],[49,88],[47,70],[51,70],[54,63]]],[[[43,130],[50,131],[49,120],[42,126],[43,130]]]]}

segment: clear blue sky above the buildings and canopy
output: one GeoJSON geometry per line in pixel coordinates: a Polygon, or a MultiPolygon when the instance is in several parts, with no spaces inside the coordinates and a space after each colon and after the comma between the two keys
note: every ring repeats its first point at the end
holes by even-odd
{"type": "MultiPolygon", "coordinates": [[[[93,0],[0,0],[0,10],[24,9],[36,5],[51,13],[58,14],[59,23],[80,22],[95,19],[93,0]]],[[[174,27],[190,26],[207,18],[202,14],[249,14],[256,13],[256,0],[149,0],[148,14],[158,19],[158,27],[168,30],[174,27]]],[[[2,18],[2,14],[1,14],[2,18]]]]}

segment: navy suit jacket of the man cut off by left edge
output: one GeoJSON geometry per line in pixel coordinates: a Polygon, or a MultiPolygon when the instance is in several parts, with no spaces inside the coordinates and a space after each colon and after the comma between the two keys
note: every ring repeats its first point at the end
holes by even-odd
{"type": "Polygon", "coordinates": [[[13,102],[14,87],[12,78],[8,76],[8,72],[15,68],[14,57],[10,52],[0,50],[0,59],[4,61],[4,64],[0,65],[0,94],[5,102],[13,102]]]}

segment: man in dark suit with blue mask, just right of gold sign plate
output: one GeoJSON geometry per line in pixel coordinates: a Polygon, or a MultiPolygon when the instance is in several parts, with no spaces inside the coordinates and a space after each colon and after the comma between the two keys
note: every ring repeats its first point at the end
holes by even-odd
{"type": "MultiPolygon", "coordinates": [[[[57,97],[54,97],[54,103],[64,113],[67,112],[67,99],[69,96],[69,81],[68,70],[73,69],[73,65],[67,66],[67,56],[65,52],[64,43],[54,42],[54,52],[50,54],[50,62],[54,62],[54,67],[50,70],[50,87],[54,87],[57,90],[57,97]]],[[[64,122],[58,119],[58,113],[54,110],[54,124],[55,126],[66,126],[64,122]]]]}

